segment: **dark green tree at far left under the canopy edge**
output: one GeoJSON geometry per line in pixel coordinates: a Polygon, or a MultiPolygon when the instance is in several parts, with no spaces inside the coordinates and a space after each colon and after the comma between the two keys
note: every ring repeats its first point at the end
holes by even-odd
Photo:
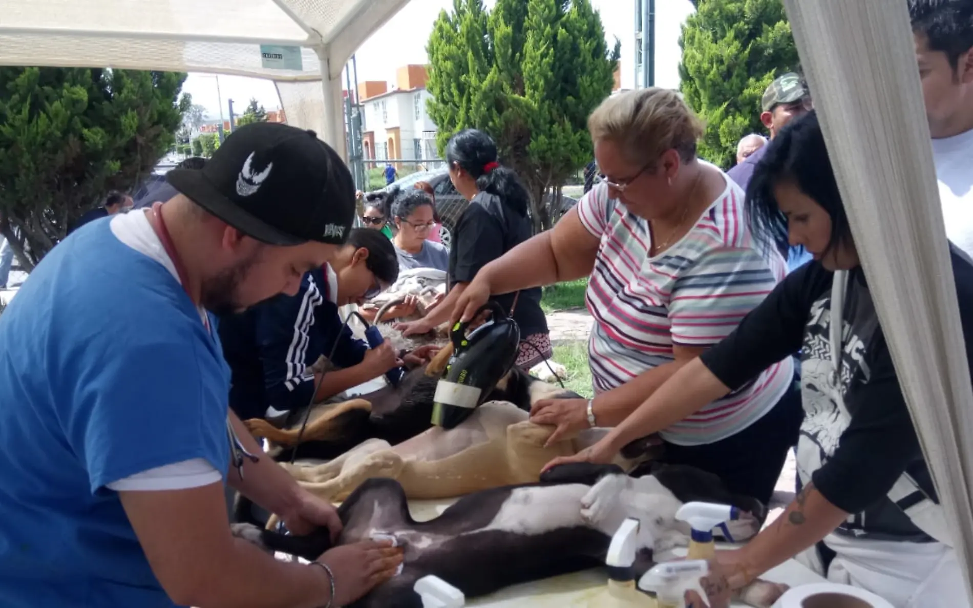
{"type": "Polygon", "coordinates": [[[186,74],[0,68],[0,232],[32,269],[109,190],[175,143],[186,74]],[[12,229],[18,229],[15,233],[12,229]]]}

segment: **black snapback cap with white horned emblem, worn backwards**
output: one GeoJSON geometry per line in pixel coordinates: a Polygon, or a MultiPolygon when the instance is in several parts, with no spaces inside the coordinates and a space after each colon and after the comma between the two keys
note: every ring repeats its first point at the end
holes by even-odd
{"type": "Polygon", "coordinates": [[[341,245],[355,215],[355,185],[314,131],[280,123],[237,128],[201,169],[166,180],[236,230],[270,245],[341,245]]]}

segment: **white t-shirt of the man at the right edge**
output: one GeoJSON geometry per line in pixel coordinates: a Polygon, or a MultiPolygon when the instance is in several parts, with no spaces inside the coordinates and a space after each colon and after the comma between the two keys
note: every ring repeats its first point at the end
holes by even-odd
{"type": "Polygon", "coordinates": [[[932,140],[946,235],[973,256],[973,130],[932,140]]]}

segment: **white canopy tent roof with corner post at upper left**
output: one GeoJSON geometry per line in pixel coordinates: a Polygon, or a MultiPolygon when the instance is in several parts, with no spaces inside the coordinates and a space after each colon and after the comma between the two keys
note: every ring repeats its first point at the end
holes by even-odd
{"type": "Polygon", "coordinates": [[[287,122],[345,156],[344,63],[409,0],[0,0],[0,64],[274,81],[287,122]]]}

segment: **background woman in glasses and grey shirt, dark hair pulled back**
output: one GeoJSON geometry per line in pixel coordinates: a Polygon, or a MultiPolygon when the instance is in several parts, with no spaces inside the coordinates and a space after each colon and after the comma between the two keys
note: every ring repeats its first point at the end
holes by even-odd
{"type": "Polygon", "coordinates": [[[432,197],[419,189],[399,194],[392,203],[392,219],[396,230],[392,242],[400,270],[449,269],[450,250],[428,238],[436,225],[432,197]]]}

